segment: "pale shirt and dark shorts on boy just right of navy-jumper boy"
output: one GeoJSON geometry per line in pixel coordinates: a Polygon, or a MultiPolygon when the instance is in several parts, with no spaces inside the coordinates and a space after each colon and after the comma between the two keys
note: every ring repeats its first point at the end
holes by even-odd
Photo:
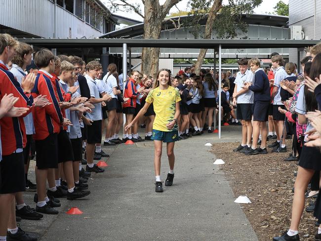
{"type": "Polygon", "coordinates": [[[285,77],[287,76],[284,67],[280,66],[274,75],[274,86],[278,87],[278,92],[275,95],[274,99],[273,99],[273,120],[276,121],[284,121],[285,120],[285,115],[281,114],[279,111],[279,107],[281,107],[282,109],[285,109],[282,100],[281,100],[281,80],[284,80],[285,77]]]}

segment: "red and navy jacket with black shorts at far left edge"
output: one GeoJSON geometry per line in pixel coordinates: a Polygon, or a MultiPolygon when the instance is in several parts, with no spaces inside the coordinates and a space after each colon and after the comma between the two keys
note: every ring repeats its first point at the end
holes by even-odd
{"type": "MultiPolygon", "coordinates": [[[[15,107],[29,108],[31,112],[33,97],[24,93],[20,83],[0,61],[0,98],[7,93],[19,97],[15,107]]],[[[3,117],[0,120],[2,159],[0,161],[0,194],[23,192],[26,187],[23,148],[26,146],[26,128],[23,117],[3,117]]]]}

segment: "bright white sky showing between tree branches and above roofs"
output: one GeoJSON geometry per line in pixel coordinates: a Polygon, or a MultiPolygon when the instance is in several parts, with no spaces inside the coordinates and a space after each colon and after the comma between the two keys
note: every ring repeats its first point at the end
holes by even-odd
{"type": "MultiPolygon", "coordinates": [[[[106,5],[108,5],[108,0],[101,0],[102,2],[104,2],[106,5]]],[[[165,0],[159,0],[161,4],[163,4],[165,2],[165,0]]],[[[128,0],[129,3],[140,3],[142,4],[141,0],[128,0]]],[[[223,0],[223,4],[226,3],[227,0],[223,0]]],[[[274,9],[273,7],[279,2],[279,0],[263,0],[261,5],[256,7],[254,9],[254,13],[257,14],[261,14],[261,13],[266,13],[266,12],[273,12],[274,9]]],[[[288,0],[283,0],[284,3],[288,3],[288,0]]],[[[181,0],[179,3],[177,3],[177,7],[178,9],[182,10],[182,11],[186,11],[186,10],[190,10],[189,7],[187,6],[188,0],[181,0]]],[[[173,7],[170,12],[177,12],[177,8],[173,7]]],[[[120,15],[120,16],[124,16],[124,17],[130,17],[132,19],[135,20],[140,20],[142,21],[143,19],[136,13],[134,12],[123,12],[123,11],[117,11],[115,12],[115,14],[120,15]]]]}

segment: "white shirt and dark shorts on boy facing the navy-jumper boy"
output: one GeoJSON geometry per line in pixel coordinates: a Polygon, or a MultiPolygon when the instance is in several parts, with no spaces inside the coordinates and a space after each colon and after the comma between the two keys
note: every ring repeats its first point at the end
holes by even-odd
{"type": "MultiPolygon", "coordinates": [[[[242,89],[245,82],[253,83],[254,75],[252,71],[246,70],[244,74],[239,71],[234,80],[234,84],[237,84],[237,92],[242,89]]],[[[254,102],[254,93],[252,90],[248,90],[245,93],[240,94],[237,98],[237,119],[250,121],[252,120],[252,105],[254,102]]]]}

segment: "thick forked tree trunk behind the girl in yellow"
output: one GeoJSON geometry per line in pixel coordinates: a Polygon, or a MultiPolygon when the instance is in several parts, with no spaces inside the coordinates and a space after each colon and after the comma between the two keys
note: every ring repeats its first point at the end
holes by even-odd
{"type": "MultiPolygon", "coordinates": [[[[181,0],[166,0],[163,5],[160,5],[158,0],[145,0],[144,39],[160,38],[162,21],[170,8],[179,1],[181,0]]],[[[159,69],[159,58],[160,48],[143,48],[141,72],[155,78],[159,69]]]]}

